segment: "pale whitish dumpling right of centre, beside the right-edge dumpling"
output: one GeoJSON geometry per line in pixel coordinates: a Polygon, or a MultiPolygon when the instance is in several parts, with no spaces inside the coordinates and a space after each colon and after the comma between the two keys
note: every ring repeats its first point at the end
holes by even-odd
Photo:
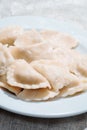
{"type": "Polygon", "coordinates": [[[55,49],[56,60],[59,62],[61,61],[65,64],[70,71],[76,67],[76,62],[78,57],[80,56],[79,53],[75,50],[67,49],[67,48],[56,48],[55,49]]]}

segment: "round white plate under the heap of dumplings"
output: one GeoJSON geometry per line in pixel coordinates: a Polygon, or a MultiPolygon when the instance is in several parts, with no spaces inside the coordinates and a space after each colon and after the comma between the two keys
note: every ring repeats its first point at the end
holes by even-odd
{"type": "MultiPolygon", "coordinates": [[[[16,16],[0,20],[0,28],[8,25],[20,25],[26,29],[53,29],[72,34],[80,41],[79,50],[87,50],[87,32],[78,24],[53,19],[16,16]]],[[[74,116],[87,112],[87,92],[74,97],[47,102],[24,102],[15,96],[0,90],[0,107],[22,115],[44,118],[74,116]]]]}

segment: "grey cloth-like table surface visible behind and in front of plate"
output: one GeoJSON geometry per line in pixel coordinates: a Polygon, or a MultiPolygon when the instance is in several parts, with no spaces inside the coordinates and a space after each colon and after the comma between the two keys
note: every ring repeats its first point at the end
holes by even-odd
{"type": "MultiPolygon", "coordinates": [[[[0,19],[15,15],[70,20],[87,29],[87,0],[0,0],[0,19]]],[[[61,119],[40,119],[0,109],[0,130],[84,130],[86,127],[86,113],[61,119]]]]}

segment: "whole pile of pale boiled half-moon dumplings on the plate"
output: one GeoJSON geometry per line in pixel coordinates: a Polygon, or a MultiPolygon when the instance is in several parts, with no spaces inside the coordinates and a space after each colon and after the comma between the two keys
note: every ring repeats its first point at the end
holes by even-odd
{"type": "Polygon", "coordinates": [[[87,90],[87,55],[78,41],[52,30],[0,30],[0,88],[25,101],[43,101],[87,90]]]}

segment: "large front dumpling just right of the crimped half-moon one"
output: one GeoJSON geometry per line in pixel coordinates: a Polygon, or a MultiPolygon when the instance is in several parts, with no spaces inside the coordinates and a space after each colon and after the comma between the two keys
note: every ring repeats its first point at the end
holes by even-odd
{"type": "Polygon", "coordinates": [[[68,68],[59,62],[39,60],[31,62],[31,65],[37,72],[47,78],[55,91],[77,80],[77,78],[69,72],[68,68]]]}

